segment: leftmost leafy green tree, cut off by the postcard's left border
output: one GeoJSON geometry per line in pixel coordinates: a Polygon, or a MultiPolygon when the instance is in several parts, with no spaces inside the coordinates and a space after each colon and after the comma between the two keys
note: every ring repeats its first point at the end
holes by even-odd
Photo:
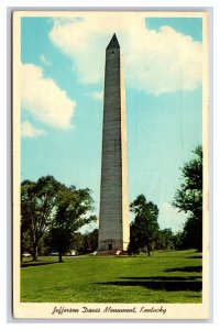
{"type": "Polygon", "coordinates": [[[40,241],[52,221],[59,187],[61,184],[53,176],[21,184],[21,242],[29,234],[33,261],[37,260],[40,241]]]}

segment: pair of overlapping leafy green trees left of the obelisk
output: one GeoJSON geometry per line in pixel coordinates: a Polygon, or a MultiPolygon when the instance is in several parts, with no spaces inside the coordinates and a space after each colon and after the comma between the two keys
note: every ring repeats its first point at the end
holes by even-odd
{"type": "Polygon", "coordinates": [[[66,187],[53,176],[41,177],[36,183],[24,180],[21,184],[21,256],[29,244],[33,260],[37,260],[37,249],[47,234],[47,241],[57,249],[62,260],[73,233],[96,220],[95,216],[87,215],[94,210],[90,193],[88,188],[66,187]]]}

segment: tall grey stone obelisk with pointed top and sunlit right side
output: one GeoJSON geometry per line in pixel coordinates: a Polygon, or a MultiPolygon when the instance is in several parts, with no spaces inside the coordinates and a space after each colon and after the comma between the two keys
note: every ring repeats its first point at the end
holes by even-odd
{"type": "Polygon", "coordinates": [[[114,34],[106,50],[98,251],[127,250],[128,194],[125,88],[122,54],[114,34]]]}

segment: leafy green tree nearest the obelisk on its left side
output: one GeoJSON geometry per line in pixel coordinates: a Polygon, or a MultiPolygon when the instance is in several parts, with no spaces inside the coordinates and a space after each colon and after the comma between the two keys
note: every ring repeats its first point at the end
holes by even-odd
{"type": "Polygon", "coordinates": [[[74,243],[74,233],[84,224],[96,220],[95,216],[87,216],[88,211],[94,209],[88,188],[77,190],[76,187],[70,186],[59,189],[50,230],[51,246],[58,252],[59,262],[74,243]]]}

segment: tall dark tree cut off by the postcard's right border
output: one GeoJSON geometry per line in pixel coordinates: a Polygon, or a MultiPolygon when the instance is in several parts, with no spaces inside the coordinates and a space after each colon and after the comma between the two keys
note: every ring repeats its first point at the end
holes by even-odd
{"type": "Polygon", "coordinates": [[[202,250],[202,147],[197,146],[195,158],[182,168],[183,183],[176,191],[173,206],[188,215],[183,231],[185,248],[202,250]]]}

